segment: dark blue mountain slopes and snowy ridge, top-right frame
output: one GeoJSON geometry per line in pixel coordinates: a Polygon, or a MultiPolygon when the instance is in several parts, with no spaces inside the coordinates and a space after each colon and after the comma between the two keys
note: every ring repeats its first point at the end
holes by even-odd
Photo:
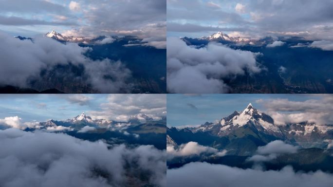
{"type": "Polygon", "coordinates": [[[230,37],[218,32],[207,37],[181,38],[188,46],[203,48],[210,42],[255,54],[263,71],[223,78],[229,93],[333,93],[333,51],[313,48],[302,37],[230,37]],[[274,42],[281,45],[269,47],[274,42]],[[283,71],[281,71],[281,68],[283,71]],[[309,72],[311,71],[311,74],[309,72]]]}

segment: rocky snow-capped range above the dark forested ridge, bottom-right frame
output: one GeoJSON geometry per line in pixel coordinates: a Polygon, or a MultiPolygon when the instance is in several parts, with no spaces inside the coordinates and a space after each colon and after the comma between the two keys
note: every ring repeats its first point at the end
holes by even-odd
{"type": "Polygon", "coordinates": [[[206,122],[197,128],[167,129],[169,144],[181,145],[190,141],[229,154],[249,156],[259,146],[274,140],[283,140],[301,148],[327,147],[326,139],[333,139],[333,125],[290,123],[276,125],[271,116],[255,109],[251,103],[242,112],[233,112],[216,123],[206,122]]]}

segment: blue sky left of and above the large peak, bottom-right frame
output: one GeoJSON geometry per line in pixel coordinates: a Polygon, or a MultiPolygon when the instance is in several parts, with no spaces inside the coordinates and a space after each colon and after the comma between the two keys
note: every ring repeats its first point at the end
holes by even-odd
{"type": "Polygon", "coordinates": [[[206,121],[214,122],[234,111],[243,111],[249,103],[265,112],[272,107],[269,106],[270,102],[277,99],[300,102],[315,99],[320,103],[323,97],[307,94],[167,94],[167,126],[194,126],[206,121]]]}

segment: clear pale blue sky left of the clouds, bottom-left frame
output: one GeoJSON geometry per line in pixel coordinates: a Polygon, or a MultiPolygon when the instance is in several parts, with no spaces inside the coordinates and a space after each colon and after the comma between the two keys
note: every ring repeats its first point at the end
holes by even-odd
{"type": "Polygon", "coordinates": [[[68,95],[60,94],[1,94],[0,118],[19,116],[24,122],[46,121],[48,119],[64,120],[73,118],[82,112],[98,111],[99,105],[106,101],[106,94],[82,95],[93,102],[80,105],[71,101],[68,95]]]}

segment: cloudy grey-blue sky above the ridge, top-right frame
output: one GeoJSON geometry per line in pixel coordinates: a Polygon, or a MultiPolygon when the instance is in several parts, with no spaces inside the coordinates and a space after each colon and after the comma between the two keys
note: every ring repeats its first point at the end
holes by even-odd
{"type": "Polygon", "coordinates": [[[168,28],[168,35],[201,37],[219,28],[250,37],[332,41],[332,8],[331,0],[167,0],[167,22],[178,24],[168,28]]]}

